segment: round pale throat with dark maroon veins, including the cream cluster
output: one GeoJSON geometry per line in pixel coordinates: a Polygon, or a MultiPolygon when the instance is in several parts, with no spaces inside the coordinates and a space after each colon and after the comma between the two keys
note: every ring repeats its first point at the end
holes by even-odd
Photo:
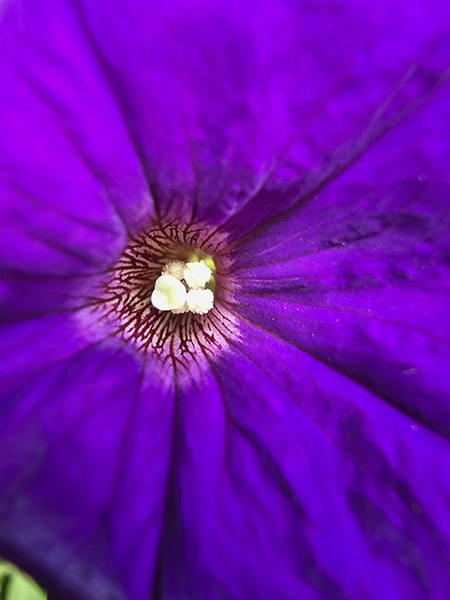
{"type": "Polygon", "coordinates": [[[226,241],[207,227],[151,227],[129,240],[95,310],[145,358],[191,373],[192,362],[207,364],[238,334],[226,241]]]}

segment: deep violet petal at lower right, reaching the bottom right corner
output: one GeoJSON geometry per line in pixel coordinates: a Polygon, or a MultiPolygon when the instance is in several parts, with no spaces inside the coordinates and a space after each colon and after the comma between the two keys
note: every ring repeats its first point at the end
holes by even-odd
{"type": "Polygon", "coordinates": [[[160,596],[445,597],[448,444],[276,336],[241,333],[216,381],[179,399],[160,596]]]}

